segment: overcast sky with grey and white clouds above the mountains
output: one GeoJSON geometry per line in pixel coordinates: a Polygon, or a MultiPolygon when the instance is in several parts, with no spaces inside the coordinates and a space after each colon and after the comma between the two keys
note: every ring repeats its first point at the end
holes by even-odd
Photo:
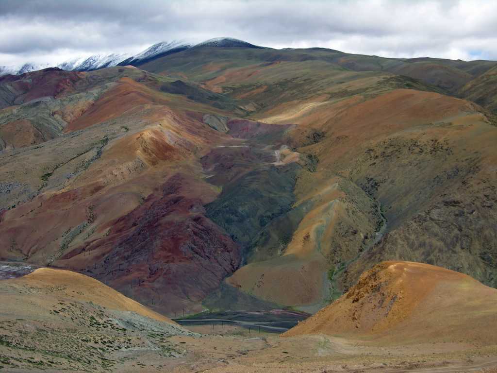
{"type": "Polygon", "coordinates": [[[494,0],[0,0],[0,66],[231,36],[273,48],[497,60],[494,0]]]}

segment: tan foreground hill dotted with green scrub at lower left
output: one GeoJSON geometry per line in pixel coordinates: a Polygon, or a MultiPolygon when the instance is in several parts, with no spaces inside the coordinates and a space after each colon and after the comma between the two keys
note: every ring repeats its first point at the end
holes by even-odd
{"type": "Polygon", "coordinates": [[[131,364],[181,356],[168,337],[194,335],[105,284],[65,270],[40,268],[0,280],[0,305],[0,367],[7,372],[123,372],[130,354],[131,364]]]}

